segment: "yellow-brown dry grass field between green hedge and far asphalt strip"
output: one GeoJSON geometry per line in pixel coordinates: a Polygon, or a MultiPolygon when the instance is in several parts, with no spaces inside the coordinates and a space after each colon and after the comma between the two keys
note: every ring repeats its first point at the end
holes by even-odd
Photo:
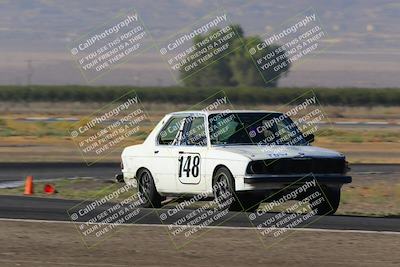
{"type": "MultiPolygon", "coordinates": [[[[24,121],[23,118],[77,118],[90,116],[106,103],[1,103],[0,162],[10,161],[81,161],[82,157],[69,136],[74,122],[24,121]]],[[[192,105],[143,103],[149,122],[127,144],[143,141],[152,127],[166,113],[187,110],[192,105]]],[[[243,106],[235,109],[282,110],[281,106],[243,106]]],[[[400,122],[400,107],[334,107],[323,108],[329,122],[378,121],[400,122]]],[[[400,163],[400,126],[386,128],[343,127],[331,125],[317,133],[314,145],[331,148],[347,155],[352,163],[400,163]]],[[[122,147],[108,154],[104,161],[119,161],[122,147]]]]}

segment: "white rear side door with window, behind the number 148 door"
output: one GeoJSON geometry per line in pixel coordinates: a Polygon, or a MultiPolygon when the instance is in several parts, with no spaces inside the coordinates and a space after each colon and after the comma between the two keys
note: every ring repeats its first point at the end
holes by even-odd
{"type": "Polygon", "coordinates": [[[158,192],[175,193],[177,190],[176,161],[178,158],[178,140],[185,125],[185,115],[176,115],[161,128],[154,146],[152,174],[158,192]]]}

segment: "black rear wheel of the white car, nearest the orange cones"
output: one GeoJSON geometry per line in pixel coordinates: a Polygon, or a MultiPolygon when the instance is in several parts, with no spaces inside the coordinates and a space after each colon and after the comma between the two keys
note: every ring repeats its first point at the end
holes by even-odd
{"type": "Polygon", "coordinates": [[[137,177],[139,198],[143,202],[143,204],[140,206],[142,208],[160,208],[161,196],[157,192],[154,179],[150,171],[147,169],[142,169],[139,171],[137,177]]]}

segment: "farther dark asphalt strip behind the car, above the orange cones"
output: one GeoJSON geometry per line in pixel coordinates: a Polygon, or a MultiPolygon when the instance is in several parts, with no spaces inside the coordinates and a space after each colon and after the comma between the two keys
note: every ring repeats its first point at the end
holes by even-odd
{"type": "MultiPolygon", "coordinates": [[[[400,164],[354,164],[353,173],[400,173],[400,164]]],[[[0,182],[23,181],[27,175],[35,180],[73,177],[114,179],[120,172],[117,162],[100,162],[87,166],[82,162],[0,163],[0,182]]]]}

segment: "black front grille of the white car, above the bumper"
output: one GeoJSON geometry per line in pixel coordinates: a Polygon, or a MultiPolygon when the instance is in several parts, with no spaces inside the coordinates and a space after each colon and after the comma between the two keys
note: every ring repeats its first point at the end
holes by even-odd
{"type": "Polygon", "coordinates": [[[256,160],[247,166],[248,174],[345,173],[344,158],[291,158],[256,160]]]}

